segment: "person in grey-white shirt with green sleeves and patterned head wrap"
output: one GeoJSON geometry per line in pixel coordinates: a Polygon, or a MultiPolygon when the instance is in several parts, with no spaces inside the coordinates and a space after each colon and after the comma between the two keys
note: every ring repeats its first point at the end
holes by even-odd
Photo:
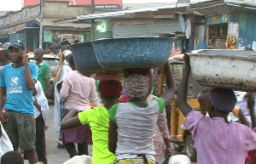
{"type": "Polygon", "coordinates": [[[125,69],[125,89],[130,102],[113,105],[108,110],[109,150],[116,154],[117,163],[155,163],[152,138],[157,118],[172,101],[175,85],[170,65],[166,69],[166,92],[160,98],[146,101],[152,89],[150,69],[125,69]]]}

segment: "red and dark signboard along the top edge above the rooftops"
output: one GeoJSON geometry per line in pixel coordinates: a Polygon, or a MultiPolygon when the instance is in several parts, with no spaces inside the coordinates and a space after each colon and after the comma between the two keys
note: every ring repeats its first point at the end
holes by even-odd
{"type": "MultiPolygon", "coordinates": [[[[70,5],[90,5],[91,0],[44,0],[44,2],[69,2],[70,5]]],[[[40,0],[23,0],[24,7],[30,5],[37,5],[40,3],[40,0]]],[[[123,0],[95,0],[95,5],[97,10],[106,10],[106,9],[122,9],[123,0]]]]}

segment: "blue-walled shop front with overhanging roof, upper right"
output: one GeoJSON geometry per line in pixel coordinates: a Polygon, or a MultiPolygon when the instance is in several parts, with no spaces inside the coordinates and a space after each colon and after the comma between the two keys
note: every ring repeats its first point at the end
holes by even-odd
{"type": "Polygon", "coordinates": [[[207,48],[256,50],[256,4],[218,0],[191,8],[206,17],[207,48]]]}

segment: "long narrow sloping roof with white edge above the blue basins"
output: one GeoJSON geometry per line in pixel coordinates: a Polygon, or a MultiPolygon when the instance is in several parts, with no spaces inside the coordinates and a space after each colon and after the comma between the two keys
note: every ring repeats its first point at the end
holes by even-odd
{"type": "Polygon", "coordinates": [[[104,14],[88,14],[78,16],[78,20],[101,20],[101,19],[133,19],[133,18],[154,18],[154,19],[164,19],[172,18],[175,13],[187,13],[187,8],[189,4],[178,4],[169,5],[157,8],[141,8],[141,9],[131,9],[123,10],[117,12],[110,12],[104,14]]]}

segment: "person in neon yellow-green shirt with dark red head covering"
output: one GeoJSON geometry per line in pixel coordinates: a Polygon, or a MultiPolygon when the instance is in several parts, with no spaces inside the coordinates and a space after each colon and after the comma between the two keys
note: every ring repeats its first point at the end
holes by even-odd
{"type": "Polygon", "coordinates": [[[90,110],[70,110],[61,122],[61,130],[90,124],[92,133],[92,164],[113,164],[116,156],[108,150],[108,109],[119,103],[119,96],[123,90],[118,80],[100,81],[98,90],[101,93],[103,106],[90,110]]]}

